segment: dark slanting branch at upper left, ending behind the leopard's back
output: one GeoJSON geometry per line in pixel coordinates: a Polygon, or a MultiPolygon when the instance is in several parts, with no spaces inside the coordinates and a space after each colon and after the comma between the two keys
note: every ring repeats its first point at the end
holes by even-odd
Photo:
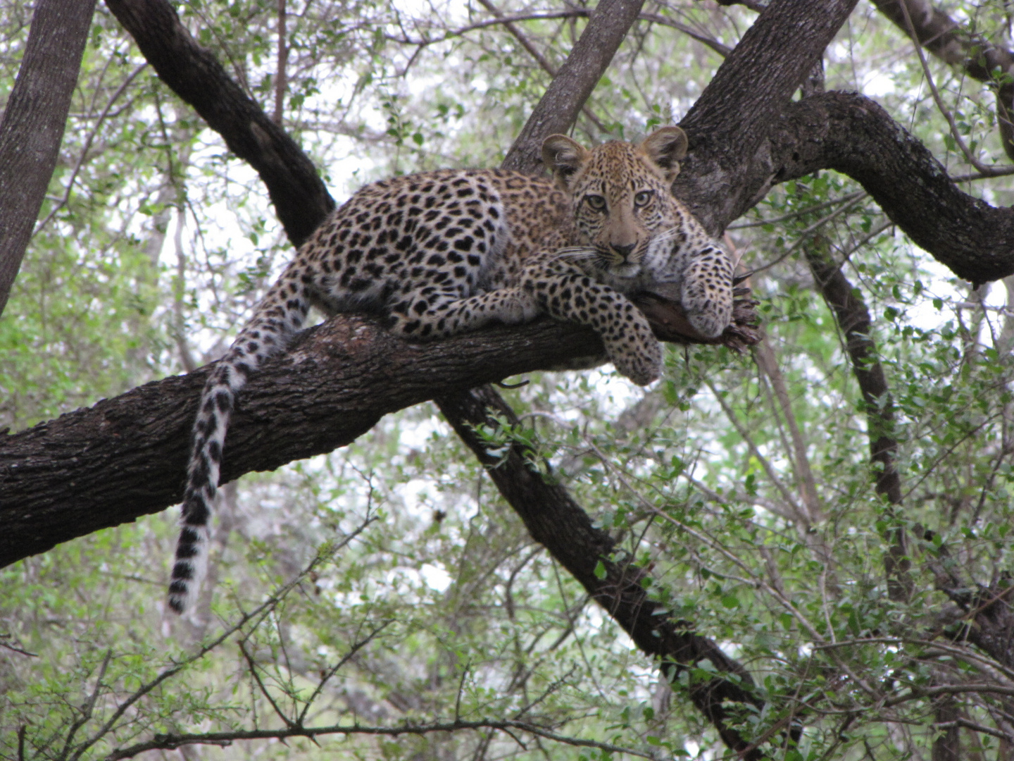
{"type": "Polygon", "coordinates": [[[335,208],[316,167],[288,133],[246,96],[164,0],[106,0],[159,79],[257,169],[296,246],[335,208]]]}

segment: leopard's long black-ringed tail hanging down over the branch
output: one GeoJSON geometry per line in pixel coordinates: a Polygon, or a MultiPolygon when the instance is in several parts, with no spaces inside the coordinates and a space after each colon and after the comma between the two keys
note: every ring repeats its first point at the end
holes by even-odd
{"type": "Polygon", "coordinates": [[[268,291],[204,386],[194,423],[179,540],[169,583],[169,608],[176,613],[191,607],[208,568],[211,513],[236,394],[268,357],[285,348],[308,310],[305,288],[291,270],[287,271],[268,291]]]}

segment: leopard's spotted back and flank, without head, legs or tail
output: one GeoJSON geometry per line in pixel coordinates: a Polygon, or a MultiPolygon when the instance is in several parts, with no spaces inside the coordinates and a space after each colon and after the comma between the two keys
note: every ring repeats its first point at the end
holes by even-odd
{"type": "Polygon", "coordinates": [[[376,309],[406,335],[432,287],[465,298],[517,282],[544,243],[569,239],[565,195],[541,178],[499,169],[438,169],[365,186],[300,249],[283,280],[306,283],[328,314],[376,309]]]}

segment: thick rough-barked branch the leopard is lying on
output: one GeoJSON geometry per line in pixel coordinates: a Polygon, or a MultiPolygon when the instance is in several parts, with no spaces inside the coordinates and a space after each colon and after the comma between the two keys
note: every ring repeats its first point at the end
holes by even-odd
{"type": "MultiPolygon", "coordinates": [[[[551,321],[409,344],[368,319],[332,320],[243,389],[222,482],[333,452],[438,393],[601,351],[591,331],[551,321]]],[[[178,503],[209,368],[0,436],[0,566],[178,503]]]]}

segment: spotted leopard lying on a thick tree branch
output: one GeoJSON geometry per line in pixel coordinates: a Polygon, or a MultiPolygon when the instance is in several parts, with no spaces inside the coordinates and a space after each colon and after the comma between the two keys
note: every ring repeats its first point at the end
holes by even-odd
{"type": "Polygon", "coordinates": [[[284,352],[311,306],[378,315],[408,340],[435,340],[541,315],[594,330],[633,383],[659,376],[661,348],[629,298],[675,283],[690,323],[719,336],[732,265],[671,192],[687,148],[679,127],[587,149],[551,135],[550,178],[437,169],[364,186],[298,249],[211,370],[193,428],[168,606],[184,613],[207,566],[211,513],[236,397],[284,352]]]}

